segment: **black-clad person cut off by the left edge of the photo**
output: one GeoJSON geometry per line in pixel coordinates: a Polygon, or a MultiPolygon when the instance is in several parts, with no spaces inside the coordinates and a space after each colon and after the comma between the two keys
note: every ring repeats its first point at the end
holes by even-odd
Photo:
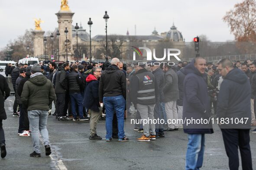
{"type": "Polygon", "coordinates": [[[3,158],[6,156],[5,138],[3,132],[3,120],[6,120],[4,101],[10,96],[10,88],[6,82],[6,79],[2,75],[0,75],[0,82],[0,150],[1,157],[3,158]]]}

